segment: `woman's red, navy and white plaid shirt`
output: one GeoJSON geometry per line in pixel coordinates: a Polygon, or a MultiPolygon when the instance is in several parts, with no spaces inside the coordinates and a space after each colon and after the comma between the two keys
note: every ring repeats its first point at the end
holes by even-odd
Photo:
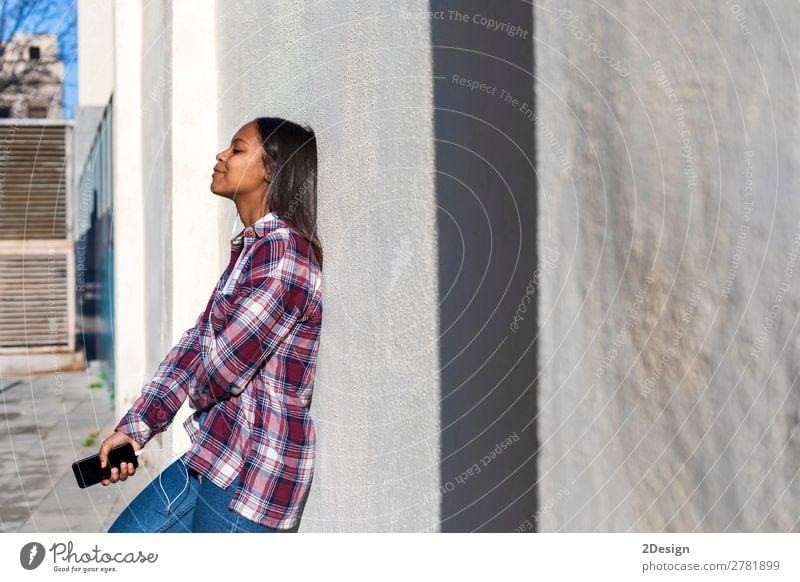
{"type": "Polygon", "coordinates": [[[311,245],[274,212],[245,229],[205,311],[116,430],[144,446],[188,397],[187,465],[221,488],[241,475],[228,509],[293,528],[314,471],[320,283],[311,245]]]}

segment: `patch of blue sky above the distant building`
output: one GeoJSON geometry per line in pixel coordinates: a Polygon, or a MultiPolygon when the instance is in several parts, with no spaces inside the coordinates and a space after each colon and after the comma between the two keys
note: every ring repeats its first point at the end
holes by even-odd
{"type": "MultiPolygon", "coordinates": [[[[32,2],[34,0],[22,0],[32,2]]],[[[16,4],[2,2],[2,4],[16,4]]],[[[76,0],[38,0],[31,17],[23,22],[18,32],[58,34],[58,49],[64,61],[64,117],[72,119],[78,100],[78,42],[76,0]],[[70,25],[72,24],[72,26],[70,25]],[[74,49],[73,50],[71,50],[74,49]],[[69,54],[73,53],[74,54],[69,54]]],[[[7,39],[6,39],[7,40],[7,39]]]]}

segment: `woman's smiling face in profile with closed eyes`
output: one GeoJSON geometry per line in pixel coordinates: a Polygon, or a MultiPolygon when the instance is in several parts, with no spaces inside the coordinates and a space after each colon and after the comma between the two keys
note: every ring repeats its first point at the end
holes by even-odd
{"type": "Polygon", "coordinates": [[[217,154],[211,191],[231,200],[261,200],[270,179],[262,162],[263,153],[255,123],[246,123],[234,134],[228,149],[217,154]]]}

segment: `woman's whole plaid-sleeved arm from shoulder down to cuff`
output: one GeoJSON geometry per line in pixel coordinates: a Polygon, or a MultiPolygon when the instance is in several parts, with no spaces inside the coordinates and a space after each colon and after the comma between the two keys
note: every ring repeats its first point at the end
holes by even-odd
{"type": "Polygon", "coordinates": [[[305,312],[310,298],[307,266],[285,232],[254,243],[239,292],[222,302],[224,318],[210,307],[186,330],[142,389],[116,429],[143,447],[167,429],[187,396],[204,410],[240,394],[305,312]]]}

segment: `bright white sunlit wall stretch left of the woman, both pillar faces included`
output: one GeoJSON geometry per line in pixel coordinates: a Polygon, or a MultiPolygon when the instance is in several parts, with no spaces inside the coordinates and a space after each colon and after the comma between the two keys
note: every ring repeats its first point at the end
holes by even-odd
{"type": "MultiPolygon", "coordinates": [[[[218,151],[214,2],[116,6],[114,106],[117,415],[194,325],[230,249],[227,208],[208,189],[218,151]],[[202,95],[202,99],[198,99],[202,95]]],[[[189,446],[182,421],[147,449],[189,446]]]]}

